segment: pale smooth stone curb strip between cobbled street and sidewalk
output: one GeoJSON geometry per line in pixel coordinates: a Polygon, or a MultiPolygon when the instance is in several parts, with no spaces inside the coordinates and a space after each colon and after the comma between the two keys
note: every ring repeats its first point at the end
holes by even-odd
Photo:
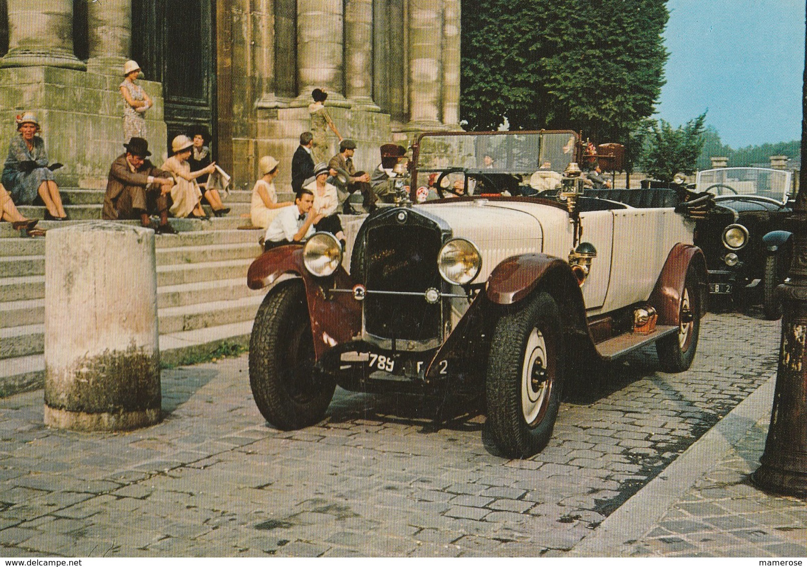
{"type": "Polygon", "coordinates": [[[771,413],[776,376],[742,400],[659,476],[633,494],[566,557],[625,557],[633,542],[650,532],[667,510],[714,469],[751,427],[771,413]]]}

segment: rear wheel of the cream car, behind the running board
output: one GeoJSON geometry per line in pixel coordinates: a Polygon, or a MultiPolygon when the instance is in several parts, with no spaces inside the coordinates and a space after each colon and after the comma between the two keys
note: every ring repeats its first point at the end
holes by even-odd
{"type": "Polygon", "coordinates": [[[656,352],[663,372],[684,372],[692,365],[700,335],[700,294],[695,270],[688,269],[678,307],[678,332],[659,339],[656,352]]]}

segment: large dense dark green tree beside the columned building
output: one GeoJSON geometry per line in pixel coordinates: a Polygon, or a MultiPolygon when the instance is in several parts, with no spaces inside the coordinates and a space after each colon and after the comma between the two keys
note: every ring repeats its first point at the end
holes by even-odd
{"type": "Polygon", "coordinates": [[[625,143],[664,84],[665,0],[466,0],[462,119],[625,143]]]}

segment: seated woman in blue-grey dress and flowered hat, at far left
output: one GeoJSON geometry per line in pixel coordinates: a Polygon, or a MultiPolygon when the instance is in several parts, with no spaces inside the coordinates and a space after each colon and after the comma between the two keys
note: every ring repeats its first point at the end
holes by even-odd
{"type": "Polygon", "coordinates": [[[32,112],[17,117],[19,135],[11,139],[0,183],[20,205],[31,205],[37,195],[45,206],[45,220],[67,220],[53,172],[48,169],[44,140],[36,133],[40,123],[32,112]]]}

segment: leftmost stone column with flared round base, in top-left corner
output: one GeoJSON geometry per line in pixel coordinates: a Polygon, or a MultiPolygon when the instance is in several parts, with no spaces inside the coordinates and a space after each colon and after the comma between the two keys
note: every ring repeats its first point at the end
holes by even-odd
{"type": "Polygon", "coordinates": [[[72,0],[8,0],[8,47],[0,67],[86,69],[73,54],[72,0]]]}

